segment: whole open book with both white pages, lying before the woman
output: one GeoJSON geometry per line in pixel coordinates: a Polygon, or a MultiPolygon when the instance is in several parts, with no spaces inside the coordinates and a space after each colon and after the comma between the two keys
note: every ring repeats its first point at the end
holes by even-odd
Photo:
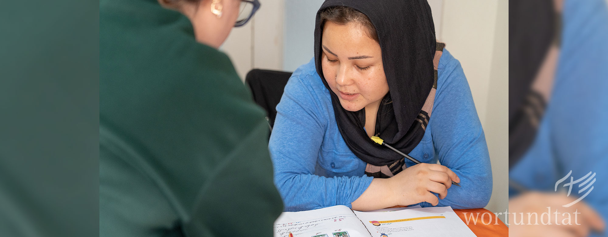
{"type": "Polygon", "coordinates": [[[274,237],[398,237],[475,234],[451,207],[406,207],[353,211],[347,206],[283,212],[274,222],[274,237]]]}

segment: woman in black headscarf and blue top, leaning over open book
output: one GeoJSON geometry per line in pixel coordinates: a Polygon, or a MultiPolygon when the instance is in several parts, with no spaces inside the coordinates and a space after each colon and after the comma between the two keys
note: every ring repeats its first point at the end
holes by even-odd
{"type": "Polygon", "coordinates": [[[485,207],[488,147],[460,63],[443,46],[425,0],[323,3],[315,57],[289,79],[269,143],[286,211],[485,207]]]}

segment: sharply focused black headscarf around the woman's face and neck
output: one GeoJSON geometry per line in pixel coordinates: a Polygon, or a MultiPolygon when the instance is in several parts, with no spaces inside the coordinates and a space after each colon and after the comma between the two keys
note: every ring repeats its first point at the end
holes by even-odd
{"type": "Polygon", "coordinates": [[[321,39],[323,26],[319,13],[328,7],[345,6],[364,13],[376,28],[384,74],[389,84],[376,115],[376,134],[385,143],[409,153],[424,136],[416,122],[434,84],[433,59],[436,49],[435,26],[426,0],[326,0],[317,12],[314,30],[314,60],[317,73],[330,91],[336,122],[348,148],[371,165],[382,166],[403,159],[374,143],[364,131],[365,109],[351,112],[342,108],[336,94],[323,77],[321,39]]]}

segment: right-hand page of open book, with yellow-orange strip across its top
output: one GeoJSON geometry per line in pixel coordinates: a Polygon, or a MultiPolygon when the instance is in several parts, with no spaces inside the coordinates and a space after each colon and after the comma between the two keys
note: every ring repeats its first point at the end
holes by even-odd
{"type": "Polygon", "coordinates": [[[353,211],[372,237],[475,237],[452,207],[424,207],[387,212],[353,211]]]}

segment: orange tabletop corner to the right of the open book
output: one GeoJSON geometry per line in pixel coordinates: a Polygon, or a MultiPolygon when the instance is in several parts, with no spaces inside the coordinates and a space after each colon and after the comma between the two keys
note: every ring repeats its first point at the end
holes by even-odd
{"type": "Polygon", "coordinates": [[[471,229],[475,235],[478,237],[485,236],[509,236],[509,228],[506,227],[505,223],[500,221],[494,213],[488,211],[484,208],[477,209],[454,209],[454,212],[463,222],[466,224],[465,215],[469,218],[469,224],[467,226],[471,229]],[[472,217],[476,219],[475,221],[471,219],[472,217]],[[479,213],[479,215],[477,215],[479,213]],[[484,215],[483,213],[489,213],[489,215],[484,215]]]}

